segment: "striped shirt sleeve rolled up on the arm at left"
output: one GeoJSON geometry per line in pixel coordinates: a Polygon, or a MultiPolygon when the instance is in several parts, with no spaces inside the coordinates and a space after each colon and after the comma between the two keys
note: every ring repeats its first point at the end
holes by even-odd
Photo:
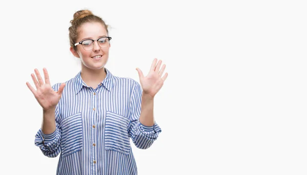
{"type": "MultiPolygon", "coordinates": [[[[54,89],[54,87],[53,87],[54,89]]],[[[56,129],[51,134],[43,134],[41,128],[35,135],[35,145],[40,148],[43,155],[47,157],[57,157],[60,153],[60,143],[61,143],[61,128],[59,125],[59,107],[58,104],[55,108],[55,124],[56,129]]]]}

